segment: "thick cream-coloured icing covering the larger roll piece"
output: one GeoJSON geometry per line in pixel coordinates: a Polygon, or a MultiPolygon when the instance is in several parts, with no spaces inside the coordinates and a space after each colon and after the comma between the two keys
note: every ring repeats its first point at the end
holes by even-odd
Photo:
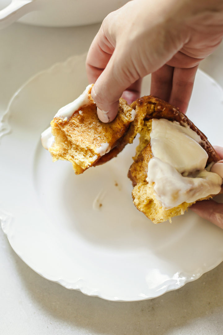
{"type": "Polygon", "coordinates": [[[190,128],[165,119],[153,119],[147,182],[156,198],[170,209],[221,190],[222,178],[205,169],[208,155],[201,138],[190,128]],[[188,177],[186,177],[188,176],[188,177]]]}

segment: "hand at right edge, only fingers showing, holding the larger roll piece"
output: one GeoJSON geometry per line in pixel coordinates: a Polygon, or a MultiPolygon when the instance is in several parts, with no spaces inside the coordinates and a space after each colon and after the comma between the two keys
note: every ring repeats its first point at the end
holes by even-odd
{"type": "MultiPolygon", "coordinates": [[[[219,146],[215,146],[214,148],[223,159],[223,148],[219,146]]],[[[214,164],[211,171],[218,173],[223,178],[223,160],[214,164]]],[[[202,200],[196,202],[196,204],[190,208],[203,219],[206,219],[223,229],[223,203],[217,203],[214,200],[202,200]]]]}

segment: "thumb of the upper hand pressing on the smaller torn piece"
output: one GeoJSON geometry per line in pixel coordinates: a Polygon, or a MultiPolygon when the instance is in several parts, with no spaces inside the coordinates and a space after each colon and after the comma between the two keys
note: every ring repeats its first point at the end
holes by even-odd
{"type": "Polygon", "coordinates": [[[130,56],[125,55],[117,45],[92,88],[91,96],[97,105],[98,118],[102,122],[114,120],[123,91],[139,79],[131,63],[130,56]]]}

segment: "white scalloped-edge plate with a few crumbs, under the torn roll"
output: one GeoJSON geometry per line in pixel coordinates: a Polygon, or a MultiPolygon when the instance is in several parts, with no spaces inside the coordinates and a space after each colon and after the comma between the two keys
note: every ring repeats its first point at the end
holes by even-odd
{"type": "MultiPolygon", "coordinates": [[[[10,114],[0,144],[2,229],[49,280],[109,300],[153,298],[217,266],[223,231],[191,211],[158,225],[138,212],[126,176],[135,144],[80,176],[68,162],[52,163],[40,133],[84,90],[84,63],[82,55],[56,64],[11,99],[1,127],[10,114]]],[[[147,78],[144,93],[148,86],[147,78]]],[[[188,115],[213,144],[222,143],[222,109],[222,89],[198,71],[188,115]]]]}

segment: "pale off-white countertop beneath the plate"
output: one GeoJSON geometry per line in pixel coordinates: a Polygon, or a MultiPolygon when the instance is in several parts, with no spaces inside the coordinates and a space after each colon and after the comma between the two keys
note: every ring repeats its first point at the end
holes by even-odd
{"type": "MultiPolygon", "coordinates": [[[[87,52],[99,27],[13,24],[0,30],[0,113],[30,76],[87,52]]],[[[222,59],[223,43],[200,68],[223,86],[222,59]]],[[[0,333],[4,335],[223,334],[223,263],[178,290],[128,303],[86,296],[42,278],[14,253],[1,229],[0,264],[0,333]]]]}

